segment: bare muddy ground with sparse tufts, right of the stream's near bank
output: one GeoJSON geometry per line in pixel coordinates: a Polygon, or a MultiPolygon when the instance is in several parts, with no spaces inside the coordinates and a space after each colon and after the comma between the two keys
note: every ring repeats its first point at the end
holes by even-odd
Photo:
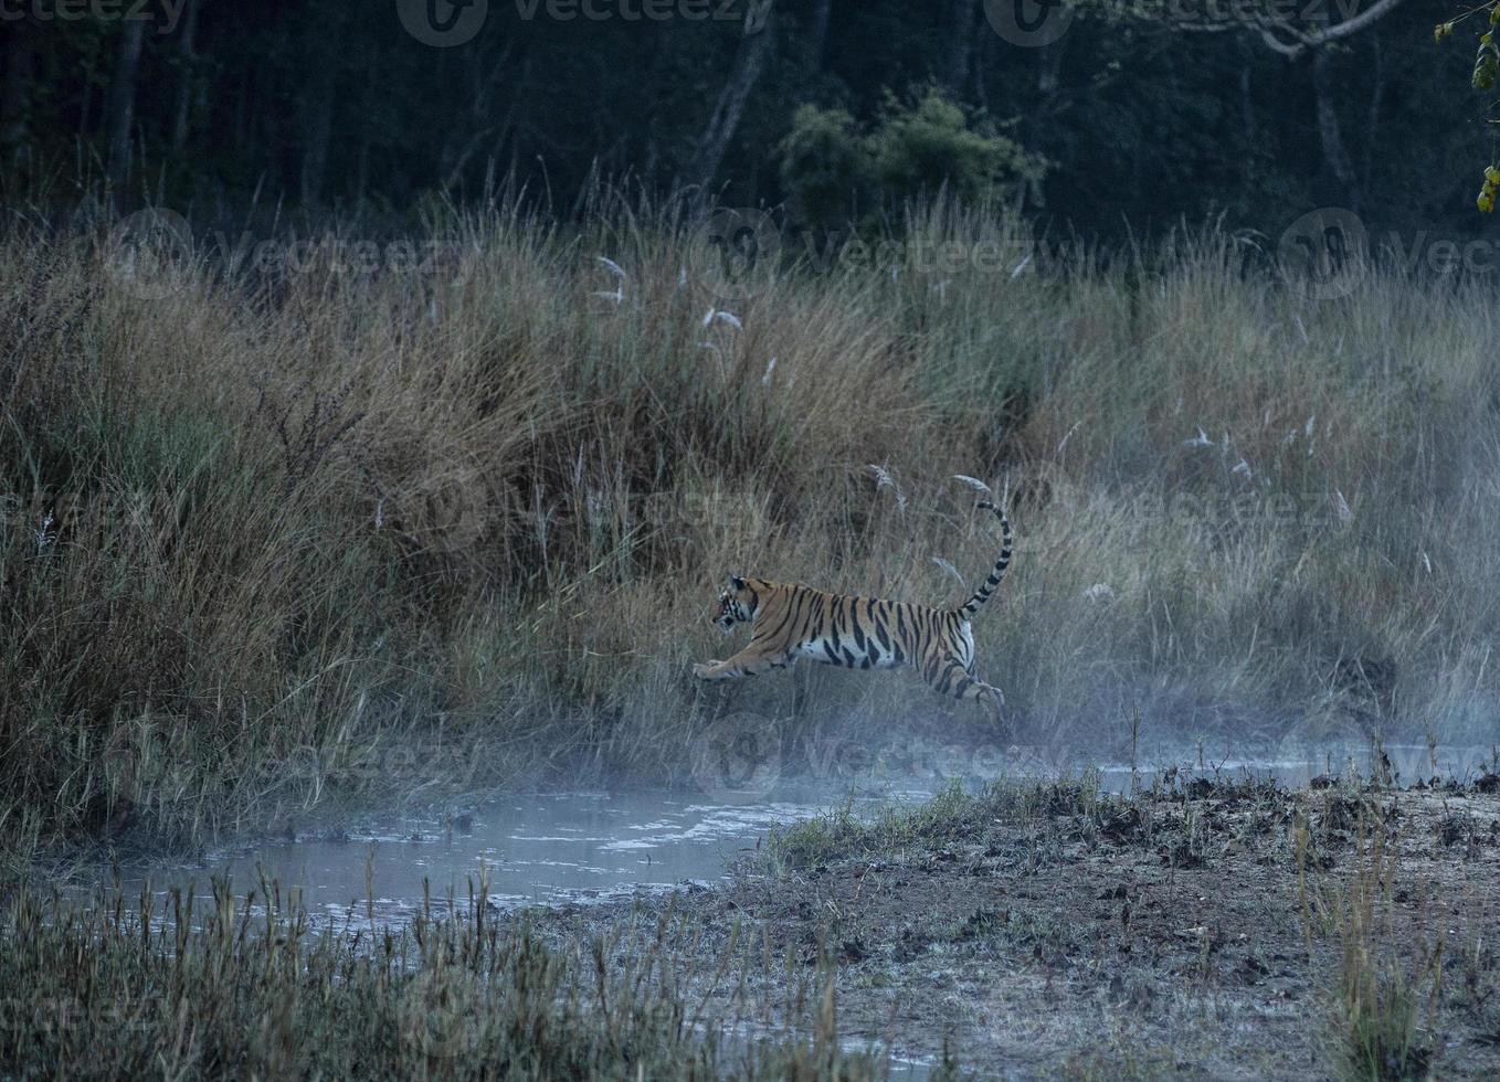
{"type": "Polygon", "coordinates": [[[585,941],[686,914],[706,971],[736,923],[794,970],[824,950],[849,1042],[980,1078],[1347,1076],[1353,959],[1413,1004],[1390,1078],[1500,1078],[1497,782],[956,793],[771,838],[720,887],[526,919],[585,941]]]}

